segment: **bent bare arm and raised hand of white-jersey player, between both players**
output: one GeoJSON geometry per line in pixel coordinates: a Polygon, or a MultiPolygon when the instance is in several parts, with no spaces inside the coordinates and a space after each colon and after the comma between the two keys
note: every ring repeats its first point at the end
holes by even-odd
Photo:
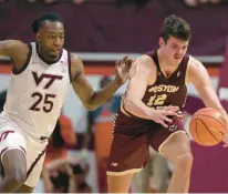
{"type": "Polygon", "coordinates": [[[115,79],[95,92],[85,78],[82,60],[76,54],[71,53],[72,85],[84,106],[89,110],[95,110],[104,104],[128,79],[131,63],[132,61],[127,58],[117,61],[115,79]]]}

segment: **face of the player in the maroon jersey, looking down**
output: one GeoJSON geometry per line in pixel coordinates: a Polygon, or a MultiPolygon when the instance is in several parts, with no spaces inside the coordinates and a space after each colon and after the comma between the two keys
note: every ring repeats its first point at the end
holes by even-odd
{"type": "Polygon", "coordinates": [[[166,43],[163,38],[160,38],[159,44],[163,53],[170,63],[180,63],[188,48],[188,41],[179,40],[174,37],[169,37],[166,43]]]}

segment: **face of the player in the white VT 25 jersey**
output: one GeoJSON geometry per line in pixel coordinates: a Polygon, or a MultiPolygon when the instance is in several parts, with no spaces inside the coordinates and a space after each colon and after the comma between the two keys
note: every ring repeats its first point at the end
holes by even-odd
{"type": "Polygon", "coordinates": [[[37,39],[44,55],[58,58],[64,44],[63,24],[61,22],[45,21],[39,30],[37,39]]]}

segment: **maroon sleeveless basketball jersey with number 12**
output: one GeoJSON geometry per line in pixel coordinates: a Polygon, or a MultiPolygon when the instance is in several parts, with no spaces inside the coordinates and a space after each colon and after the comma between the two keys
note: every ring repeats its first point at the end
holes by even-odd
{"type": "Polygon", "coordinates": [[[160,70],[157,51],[147,52],[157,68],[157,78],[154,84],[147,85],[142,101],[149,108],[163,109],[168,105],[177,105],[180,110],[185,106],[187,98],[187,86],[185,76],[189,55],[186,54],[178,68],[166,76],[160,70]]]}

